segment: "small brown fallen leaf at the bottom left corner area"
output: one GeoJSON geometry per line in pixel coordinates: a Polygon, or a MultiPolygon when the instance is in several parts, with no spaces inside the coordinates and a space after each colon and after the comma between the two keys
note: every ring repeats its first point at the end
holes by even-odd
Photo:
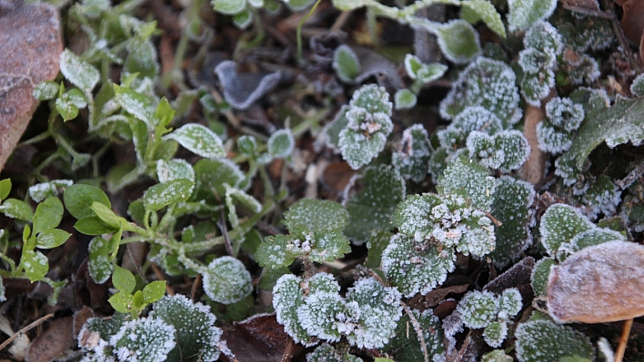
{"type": "Polygon", "coordinates": [[[43,334],[36,337],[29,347],[29,362],[47,362],[74,347],[74,318],[56,318],[43,334]]]}

